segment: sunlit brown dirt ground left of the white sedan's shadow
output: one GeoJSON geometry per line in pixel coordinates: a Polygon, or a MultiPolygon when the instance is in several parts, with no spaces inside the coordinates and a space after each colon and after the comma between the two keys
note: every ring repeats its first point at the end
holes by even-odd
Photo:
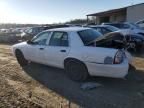
{"type": "Polygon", "coordinates": [[[0,108],[78,107],[28,76],[13,57],[10,45],[0,45],[0,108]]]}

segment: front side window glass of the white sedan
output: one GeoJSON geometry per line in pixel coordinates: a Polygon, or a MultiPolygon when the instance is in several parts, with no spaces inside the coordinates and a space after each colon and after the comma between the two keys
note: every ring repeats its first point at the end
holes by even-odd
{"type": "Polygon", "coordinates": [[[32,39],[32,42],[37,45],[46,45],[47,39],[51,32],[42,32],[32,39]]]}

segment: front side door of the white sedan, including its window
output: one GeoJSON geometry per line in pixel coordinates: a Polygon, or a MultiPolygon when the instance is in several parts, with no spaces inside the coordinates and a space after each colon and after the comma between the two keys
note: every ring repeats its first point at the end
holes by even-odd
{"type": "Polygon", "coordinates": [[[28,44],[27,47],[29,60],[38,63],[45,63],[44,51],[45,47],[47,47],[47,41],[50,38],[50,35],[50,31],[42,32],[31,40],[32,44],[28,44]]]}

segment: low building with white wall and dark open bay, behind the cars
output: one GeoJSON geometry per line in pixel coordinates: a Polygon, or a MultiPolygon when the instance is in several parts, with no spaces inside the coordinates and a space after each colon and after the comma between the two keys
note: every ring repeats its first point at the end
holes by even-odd
{"type": "Polygon", "coordinates": [[[95,18],[96,24],[104,22],[136,22],[144,19],[144,3],[127,6],[119,9],[112,9],[104,12],[88,14],[89,17],[95,18]]]}

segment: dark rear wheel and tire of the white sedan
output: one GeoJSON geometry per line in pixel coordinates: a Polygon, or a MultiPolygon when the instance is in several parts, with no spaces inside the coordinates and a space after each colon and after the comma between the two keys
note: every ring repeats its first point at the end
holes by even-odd
{"type": "Polygon", "coordinates": [[[87,67],[80,61],[67,61],[65,63],[65,70],[68,77],[73,81],[85,81],[89,76],[87,67]]]}

